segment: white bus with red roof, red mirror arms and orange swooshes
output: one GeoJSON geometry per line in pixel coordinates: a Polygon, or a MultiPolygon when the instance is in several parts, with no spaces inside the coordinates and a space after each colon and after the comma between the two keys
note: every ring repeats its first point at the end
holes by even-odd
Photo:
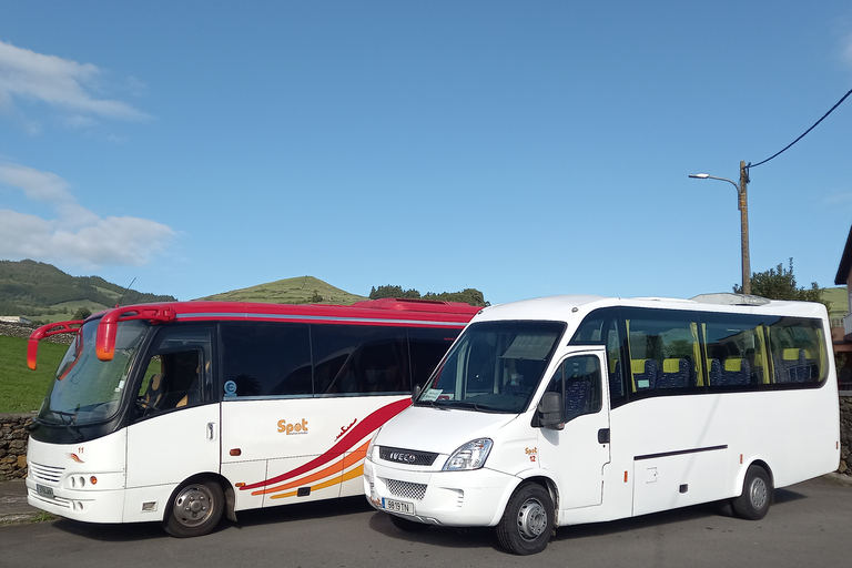
{"type": "Polygon", "coordinates": [[[373,433],[478,310],[176,302],[42,326],[31,368],[39,339],[75,338],[32,420],[29,504],[189,537],[223,514],[359,495],[373,433]]]}

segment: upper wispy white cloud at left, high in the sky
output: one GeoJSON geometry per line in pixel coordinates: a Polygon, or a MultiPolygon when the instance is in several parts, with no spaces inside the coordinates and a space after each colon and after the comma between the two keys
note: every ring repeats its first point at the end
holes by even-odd
{"type": "MultiPolygon", "coordinates": [[[[149,118],[132,105],[92,95],[101,70],[92,63],[78,63],[55,55],[43,55],[0,41],[0,108],[12,109],[16,100],[41,101],[81,118],[142,120],[149,118]]],[[[139,81],[132,80],[139,89],[139,81]]]]}

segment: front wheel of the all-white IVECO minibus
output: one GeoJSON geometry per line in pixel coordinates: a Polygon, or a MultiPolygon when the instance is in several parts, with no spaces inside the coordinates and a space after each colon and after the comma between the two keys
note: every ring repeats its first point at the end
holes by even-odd
{"type": "Polygon", "coordinates": [[[554,531],[554,500],[538,484],[524,484],[513,494],[497,524],[497,539],[511,554],[534,555],[547,547],[554,531]]]}

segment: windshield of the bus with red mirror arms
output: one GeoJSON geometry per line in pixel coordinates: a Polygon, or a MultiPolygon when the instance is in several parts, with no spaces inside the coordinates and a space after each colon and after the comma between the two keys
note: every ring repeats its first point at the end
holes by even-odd
{"type": "Polygon", "coordinates": [[[122,322],[115,355],[103,362],[94,349],[99,322],[87,322],[65,352],[39,410],[40,422],[80,426],[105,420],[118,412],[130,365],[150,326],[141,321],[122,322]]]}

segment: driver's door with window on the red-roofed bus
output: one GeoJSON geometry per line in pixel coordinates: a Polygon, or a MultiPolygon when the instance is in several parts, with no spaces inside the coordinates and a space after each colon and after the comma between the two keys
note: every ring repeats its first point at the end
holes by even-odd
{"type": "MultiPolygon", "coordinates": [[[[212,327],[163,326],[143,362],[128,426],[126,488],[174,485],[219,473],[220,405],[211,373],[212,327]]],[[[143,498],[144,490],[139,491],[143,498]]],[[[132,514],[135,504],[126,504],[132,514]]]]}

